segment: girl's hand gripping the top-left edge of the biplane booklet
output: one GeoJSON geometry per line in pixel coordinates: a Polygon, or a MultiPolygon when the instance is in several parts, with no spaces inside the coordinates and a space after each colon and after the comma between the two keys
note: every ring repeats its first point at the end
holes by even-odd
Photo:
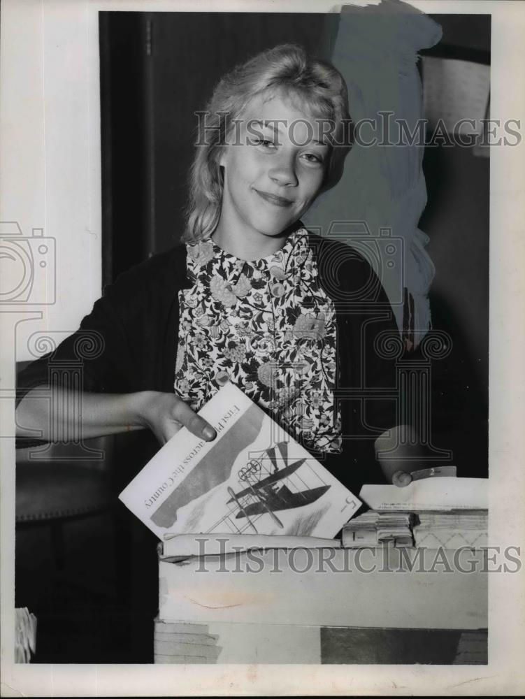
{"type": "Polygon", "coordinates": [[[207,442],[217,436],[213,427],[175,394],[141,391],[136,396],[138,422],[149,428],[161,445],[166,444],[183,426],[207,442]]]}

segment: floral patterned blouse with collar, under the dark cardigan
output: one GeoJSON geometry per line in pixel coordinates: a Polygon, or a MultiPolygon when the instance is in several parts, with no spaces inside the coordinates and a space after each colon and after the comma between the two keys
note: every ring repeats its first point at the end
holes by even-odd
{"type": "Polygon", "coordinates": [[[305,229],[281,250],[246,262],[213,240],[187,245],[189,289],[179,292],[175,392],[194,410],[231,381],[296,440],[340,452],[336,316],[317,277],[305,229]]]}

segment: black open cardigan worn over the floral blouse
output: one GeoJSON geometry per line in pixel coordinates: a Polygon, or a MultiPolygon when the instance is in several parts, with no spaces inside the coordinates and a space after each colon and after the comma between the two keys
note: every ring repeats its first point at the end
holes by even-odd
{"type": "MultiPolygon", "coordinates": [[[[364,258],[344,243],[309,236],[320,282],[336,308],[339,370],[335,395],[341,401],[343,423],[343,454],[315,456],[348,487],[356,488],[362,482],[381,481],[373,442],[397,421],[395,362],[380,356],[375,346],[380,336],[395,335],[397,326],[384,289],[364,258]]],[[[84,391],[172,392],[178,291],[187,287],[185,245],[120,275],[106,287],[78,331],[20,373],[17,402],[31,388],[49,385],[50,370],[56,382],[56,377],[66,377],[68,367],[73,366],[69,363],[78,360],[82,361],[84,391]]],[[[27,438],[17,440],[17,446],[34,443],[27,438]]]]}

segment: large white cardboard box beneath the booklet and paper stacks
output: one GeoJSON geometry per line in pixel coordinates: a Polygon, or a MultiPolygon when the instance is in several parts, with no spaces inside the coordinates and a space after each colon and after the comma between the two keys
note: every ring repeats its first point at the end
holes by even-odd
{"type": "Polygon", "coordinates": [[[266,549],[159,560],[157,633],[182,624],[172,628],[217,638],[217,660],[180,662],[315,663],[320,628],[477,631],[487,628],[487,606],[483,551],[266,549]]]}

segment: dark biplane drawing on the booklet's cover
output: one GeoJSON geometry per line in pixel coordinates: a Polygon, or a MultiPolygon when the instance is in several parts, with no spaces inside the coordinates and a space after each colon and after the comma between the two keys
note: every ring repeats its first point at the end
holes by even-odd
{"type": "Polygon", "coordinates": [[[297,472],[306,459],[289,463],[288,444],[278,442],[239,470],[239,484],[245,487],[238,492],[232,487],[226,489],[230,496],[226,501],[229,511],[213,528],[226,522],[236,531],[249,529],[258,533],[255,521],[263,514],[269,514],[278,527],[284,528],[275,512],[315,503],[329,490],[330,486],[324,483],[312,488],[304,482],[297,472]],[[233,519],[244,519],[245,525],[236,526],[233,519]]]}

